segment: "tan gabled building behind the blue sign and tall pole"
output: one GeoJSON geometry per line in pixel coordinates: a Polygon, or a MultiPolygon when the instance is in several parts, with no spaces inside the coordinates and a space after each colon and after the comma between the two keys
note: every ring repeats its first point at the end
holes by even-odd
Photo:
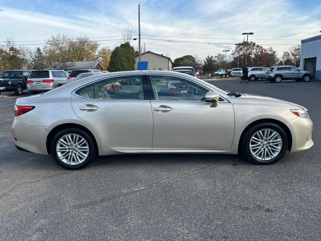
{"type": "MultiPolygon", "coordinates": [[[[137,69],[137,63],[139,57],[135,57],[135,69],[137,69]]],[[[140,61],[148,62],[148,70],[168,70],[172,71],[173,61],[170,57],[164,56],[163,54],[156,54],[151,51],[140,54],[140,61]]]]}

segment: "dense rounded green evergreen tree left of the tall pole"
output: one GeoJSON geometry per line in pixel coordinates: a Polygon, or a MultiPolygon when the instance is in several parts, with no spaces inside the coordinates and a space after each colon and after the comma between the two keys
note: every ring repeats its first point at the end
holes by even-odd
{"type": "Polygon", "coordinates": [[[110,56],[108,71],[129,71],[135,69],[135,50],[129,43],[116,47],[110,56]]]}

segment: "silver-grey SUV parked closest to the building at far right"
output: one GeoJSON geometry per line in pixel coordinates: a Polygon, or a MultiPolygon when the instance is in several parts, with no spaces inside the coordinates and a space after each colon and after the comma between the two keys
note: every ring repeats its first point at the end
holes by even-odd
{"type": "Polygon", "coordinates": [[[267,69],[265,72],[265,79],[270,80],[270,82],[279,83],[282,80],[294,79],[296,81],[309,81],[314,78],[314,72],[300,70],[294,66],[283,65],[283,66],[273,66],[267,69]]]}

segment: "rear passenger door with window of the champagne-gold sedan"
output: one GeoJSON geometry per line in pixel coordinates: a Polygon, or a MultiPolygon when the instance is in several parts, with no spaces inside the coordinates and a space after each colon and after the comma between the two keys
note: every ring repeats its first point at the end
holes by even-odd
{"type": "Polygon", "coordinates": [[[71,96],[76,115],[114,150],[150,150],[152,114],[144,75],[113,77],[82,87],[71,96]]]}

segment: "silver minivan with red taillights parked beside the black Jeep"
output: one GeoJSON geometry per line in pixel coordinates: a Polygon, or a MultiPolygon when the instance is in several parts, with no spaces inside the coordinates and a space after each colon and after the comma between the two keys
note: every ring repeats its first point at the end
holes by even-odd
{"type": "Polygon", "coordinates": [[[71,81],[68,72],[63,70],[34,70],[27,80],[27,90],[32,93],[52,90],[71,81]]]}

